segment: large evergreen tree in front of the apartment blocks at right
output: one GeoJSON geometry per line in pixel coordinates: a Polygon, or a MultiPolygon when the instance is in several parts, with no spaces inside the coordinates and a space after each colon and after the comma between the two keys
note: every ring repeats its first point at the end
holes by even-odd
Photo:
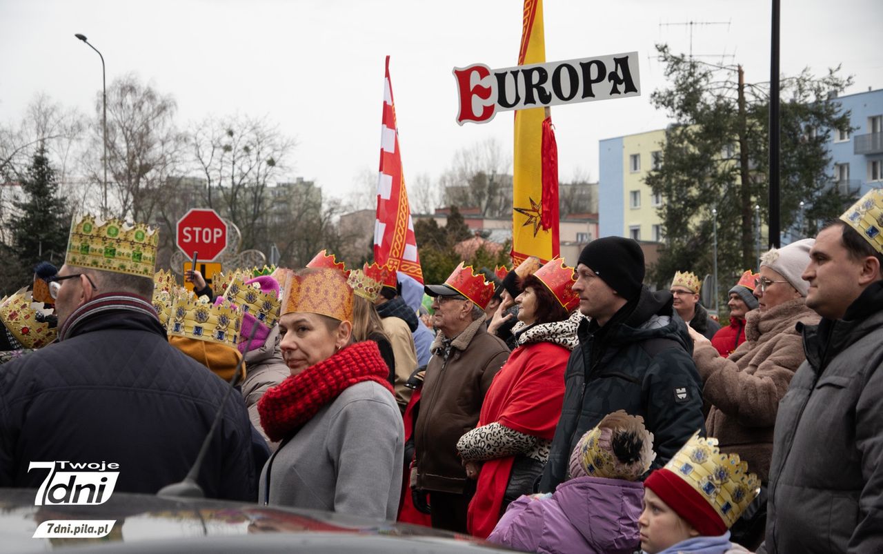
{"type": "MultiPolygon", "coordinates": [[[[712,273],[713,209],[716,210],[719,291],[744,269],[755,268],[756,209],[766,220],[768,202],[769,94],[747,84],[741,65],[709,65],[659,46],[671,87],[653,93],[652,102],[675,123],[666,130],[661,155],[646,178],[659,209],[665,247],[651,271],[664,286],[675,270],[700,277],[712,273]]],[[[851,83],[838,69],[816,78],[804,71],[781,80],[781,228],[807,215],[838,216],[852,201],[831,190],[826,142],[833,129],[849,127],[849,113],[829,100],[851,83]]],[[[811,231],[811,225],[805,225],[811,231]]],[[[766,249],[766,242],[763,244],[766,249]]],[[[730,283],[732,281],[732,284],[730,283]]]]}

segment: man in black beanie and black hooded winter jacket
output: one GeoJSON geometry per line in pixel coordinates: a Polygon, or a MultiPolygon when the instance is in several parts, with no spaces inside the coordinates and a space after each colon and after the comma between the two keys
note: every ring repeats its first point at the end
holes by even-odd
{"type": "Polygon", "coordinates": [[[697,430],[705,434],[701,384],[687,326],[672,309],[671,292],[650,292],[644,253],[632,239],[592,240],[579,254],[579,347],[564,374],[564,404],[540,492],[568,476],[570,452],[607,414],[644,418],[662,467],[697,430]]]}

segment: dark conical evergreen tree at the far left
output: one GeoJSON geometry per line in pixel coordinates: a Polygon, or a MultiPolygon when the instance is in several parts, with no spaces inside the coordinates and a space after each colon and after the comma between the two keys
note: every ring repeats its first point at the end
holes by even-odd
{"type": "Polygon", "coordinates": [[[58,192],[55,170],[41,145],[21,182],[24,201],[14,202],[19,216],[12,220],[12,244],[26,280],[34,266],[46,260],[57,266],[64,262],[71,213],[58,192]]]}

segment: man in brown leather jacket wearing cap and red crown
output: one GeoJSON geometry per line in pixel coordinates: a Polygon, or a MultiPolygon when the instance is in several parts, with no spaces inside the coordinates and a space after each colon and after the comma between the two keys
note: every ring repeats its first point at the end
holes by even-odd
{"type": "Polygon", "coordinates": [[[494,285],[480,273],[461,263],[444,285],[426,285],[426,294],[434,297],[433,323],[439,332],[414,426],[411,488],[418,507],[426,506],[428,493],[433,527],[466,533],[472,495],[457,439],[478,423],[485,393],[509,349],[485,329],[484,308],[494,285]]]}

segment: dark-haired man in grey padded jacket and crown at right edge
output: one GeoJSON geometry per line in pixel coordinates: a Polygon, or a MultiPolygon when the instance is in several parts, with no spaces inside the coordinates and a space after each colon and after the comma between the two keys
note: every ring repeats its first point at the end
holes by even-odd
{"type": "Polygon", "coordinates": [[[806,361],[776,417],[759,551],[883,552],[883,190],[816,237],[806,361]]]}

